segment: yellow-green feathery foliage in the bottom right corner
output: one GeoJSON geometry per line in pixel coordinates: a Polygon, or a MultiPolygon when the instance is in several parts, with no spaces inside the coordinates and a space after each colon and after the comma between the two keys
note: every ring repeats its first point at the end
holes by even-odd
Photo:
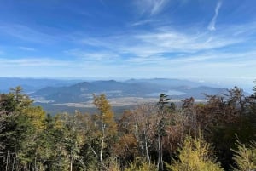
{"type": "Polygon", "coordinates": [[[237,171],[250,171],[256,169],[256,142],[251,141],[250,145],[246,146],[237,140],[237,150],[233,159],[236,161],[237,171]]]}

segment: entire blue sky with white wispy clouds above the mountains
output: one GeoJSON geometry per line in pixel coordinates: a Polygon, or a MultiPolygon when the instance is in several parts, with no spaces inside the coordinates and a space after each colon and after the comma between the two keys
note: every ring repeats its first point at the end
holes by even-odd
{"type": "Polygon", "coordinates": [[[254,0],[0,0],[0,77],[253,85],[254,0]]]}

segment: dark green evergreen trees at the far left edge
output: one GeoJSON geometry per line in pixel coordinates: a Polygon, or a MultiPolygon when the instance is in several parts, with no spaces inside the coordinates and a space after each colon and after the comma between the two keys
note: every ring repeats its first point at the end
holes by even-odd
{"type": "Polygon", "coordinates": [[[0,98],[0,142],[3,143],[0,148],[3,160],[0,160],[0,170],[19,169],[31,162],[32,158],[28,157],[27,151],[32,144],[32,138],[35,135],[36,128],[32,120],[24,110],[32,105],[32,100],[25,94],[21,94],[20,87],[11,89],[9,94],[1,94],[0,98]],[[11,162],[20,163],[12,166],[11,162]]]}

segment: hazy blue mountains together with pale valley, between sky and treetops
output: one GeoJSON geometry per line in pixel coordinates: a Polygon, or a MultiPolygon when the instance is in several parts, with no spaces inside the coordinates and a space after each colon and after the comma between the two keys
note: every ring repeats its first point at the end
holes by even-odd
{"type": "Polygon", "coordinates": [[[204,100],[204,94],[227,93],[227,88],[215,88],[182,79],[130,79],[121,82],[0,77],[0,93],[7,93],[9,88],[18,85],[30,95],[35,105],[43,106],[44,110],[52,114],[95,110],[92,94],[106,94],[113,110],[120,113],[134,105],[155,103],[160,93],[169,95],[177,102],[189,97],[204,100]]]}

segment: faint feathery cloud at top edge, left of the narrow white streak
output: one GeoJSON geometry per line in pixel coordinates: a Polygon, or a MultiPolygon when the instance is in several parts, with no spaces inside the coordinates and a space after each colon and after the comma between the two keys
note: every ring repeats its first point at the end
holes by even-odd
{"type": "Polygon", "coordinates": [[[169,0],[137,0],[135,4],[142,14],[154,15],[160,13],[168,2],[169,0]]]}

